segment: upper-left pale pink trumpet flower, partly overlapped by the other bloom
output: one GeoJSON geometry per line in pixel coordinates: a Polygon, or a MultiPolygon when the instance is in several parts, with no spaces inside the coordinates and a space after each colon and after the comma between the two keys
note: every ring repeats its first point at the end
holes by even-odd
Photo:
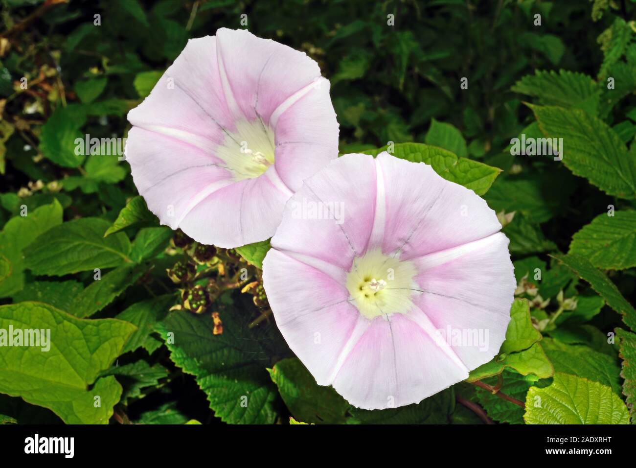
{"type": "Polygon", "coordinates": [[[316,62],[242,30],[191,39],[128,120],[126,158],[148,208],[221,247],[270,238],[303,179],[338,155],[316,62]]]}

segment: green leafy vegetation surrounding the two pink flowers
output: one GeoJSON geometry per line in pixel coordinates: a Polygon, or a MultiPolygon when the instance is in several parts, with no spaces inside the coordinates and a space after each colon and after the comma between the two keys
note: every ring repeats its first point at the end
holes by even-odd
{"type": "Polygon", "coordinates": [[[48,362],[0,348],[0,422],[633,417],[634,0],[0,3],[0,328],[67,338],[48,362]],[[417,159],[430,147],[406,143],[439,146],[435,169],[499,213],[518,300],[501,354],[471,374],[474,385],[405,408],[351,408],[315,385],[280,337],[260,283],[266,243],[194,245],[158,225],[125,162],[74,153],[85,134],[125,137],[127,111],[188,38],[219,27],[317,60],[341,153],[393,141],[404,143],[399,157],[417,159]],[[563,161],[511,154],[522,133],[563,138],[563,161]],[[188,339],[170,343],[170,332],[188,339]],[[573,406],[559,403],[563,393],[573,406]]]}

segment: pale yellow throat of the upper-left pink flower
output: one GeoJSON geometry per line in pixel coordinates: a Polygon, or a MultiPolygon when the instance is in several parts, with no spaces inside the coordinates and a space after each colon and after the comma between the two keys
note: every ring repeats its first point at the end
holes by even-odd
{"type": "Polygon", "coordinates": [[[274,162],[274,134],[270,127],[257,120],[236,123],[218,147],[218,157],[234,174],[234,180],[253,179],[265,173],[274,162]]]}

